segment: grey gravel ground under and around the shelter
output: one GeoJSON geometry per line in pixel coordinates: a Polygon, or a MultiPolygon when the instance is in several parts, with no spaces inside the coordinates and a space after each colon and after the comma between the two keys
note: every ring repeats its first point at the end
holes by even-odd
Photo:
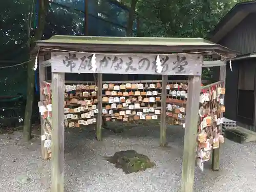
{"type": "MultiPolygon", "coordinates": [[[[133,125],[134,126],[134,125],[133,125]]],[[[169,147],[159,147],[159,125],[137,125],[122,134],[103,131],[104,141],[97,142],[94,132],[69,130],[65,143],[65,190],[75,191],[168,191],[177,192],[181,182],[184,130],[169,126],[169,147]],[[135,150],[156,163],[153,169],[125,175],[103,159],[121,150],[135,150]]],[[[30,143],[19,140],[21,132],[0,135],[0,191],[50,191],[51,163],[40,158],[40,138],[30,143]]],[[[255,191],[256,143],[238,144],[226,140],[222,146],[221,170],[196,168],[195,190],[255,191]]]]}

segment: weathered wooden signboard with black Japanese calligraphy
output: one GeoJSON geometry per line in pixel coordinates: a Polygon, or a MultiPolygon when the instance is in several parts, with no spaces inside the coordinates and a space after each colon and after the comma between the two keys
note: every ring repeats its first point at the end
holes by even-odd
{"type": "Polygon", "coordinates": [[[202,72],[201,55],[160,55],[160,63],[157,62],[157,55],[95,56],[97,68],[95,65],[95,68],[92,67],[93,54],[54,52],[51,59],[52,72],[156,75],[201,75],[202,72]],[[159,65],[161,72],[157,70],[159,65]]]}

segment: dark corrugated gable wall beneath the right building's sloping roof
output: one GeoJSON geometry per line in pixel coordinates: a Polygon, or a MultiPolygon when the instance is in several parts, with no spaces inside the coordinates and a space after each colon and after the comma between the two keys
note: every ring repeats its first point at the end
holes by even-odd
{"type": "Polygon", "coordinates": [[[256,13],[250,13],[218,43],[239,51],[241,55],[256,52],[256,13]]]}

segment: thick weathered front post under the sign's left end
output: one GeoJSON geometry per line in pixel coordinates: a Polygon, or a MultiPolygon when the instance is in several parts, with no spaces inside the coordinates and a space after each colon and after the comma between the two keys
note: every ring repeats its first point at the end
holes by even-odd
{"type": "Polygon", "coordinates": [[[64,192],[65,73],[52,73],[52,192],[64,192]]]}

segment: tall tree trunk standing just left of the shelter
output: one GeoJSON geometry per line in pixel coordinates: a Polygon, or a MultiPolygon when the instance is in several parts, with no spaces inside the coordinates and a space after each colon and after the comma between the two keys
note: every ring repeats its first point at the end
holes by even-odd
{"type": "MultiPolygon", "coordinates": [[[[28,71],[27,103],[26,103],[25,119],[24,119],[24,127],[23,127],[23,136],[26,141],[31,139],[31,116],[32,116],[32,109],[33,109],[34,87],[35,87],[35,71],[33,70],[33,68],[34,68],[35,57],[36,57],[35,54],[38,53],[38,48],[35,47],[35,41],[40,40],[42,37],[42,34],[45,29],[46,13],[49,7],[49,0],[39,0],[38,2],[39,2],[38,26],[35,29],[35,36],[33,38],[33,41],[29,45],[31,61],[28,62],[28,66],[27,66],[27,71],[28,71]]],[[[32,20],[30,20],[30,22],[32,22],[32,20]]]]}

